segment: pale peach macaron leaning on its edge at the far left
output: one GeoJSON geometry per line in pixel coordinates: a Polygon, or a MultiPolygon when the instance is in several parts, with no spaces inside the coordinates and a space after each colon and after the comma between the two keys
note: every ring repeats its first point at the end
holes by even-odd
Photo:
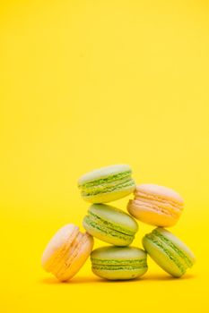
{"type": "Polygon", "coordinates": [[[67,224],[57,231],[43,252],[43,268],[60,281],[72,278],[90,256],[93,238],[81,233],[74,224],[67,224]]]}

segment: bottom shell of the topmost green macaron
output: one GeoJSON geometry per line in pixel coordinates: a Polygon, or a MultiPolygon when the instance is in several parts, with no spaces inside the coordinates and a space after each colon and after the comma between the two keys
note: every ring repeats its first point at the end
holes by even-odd
{"type": "Polygon", "coordinates": [[[99,193],[96,195],[83,196],[83,200],[90,203],[108,203],[117,199],[122,199],[135,190],[135,185],[126,186],[120,190],[113,190],[111,192],[99,193]]]}

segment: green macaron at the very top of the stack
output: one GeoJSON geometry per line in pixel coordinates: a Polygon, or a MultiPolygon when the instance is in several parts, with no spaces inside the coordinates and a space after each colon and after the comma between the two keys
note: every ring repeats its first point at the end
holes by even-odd
{"type": "Polygon", "coordinates": [[[110,165],[84,174],[78,180],[82,198],[91,203],[106,203],[126,197],[135,190],[129,165],[110,165]]]}

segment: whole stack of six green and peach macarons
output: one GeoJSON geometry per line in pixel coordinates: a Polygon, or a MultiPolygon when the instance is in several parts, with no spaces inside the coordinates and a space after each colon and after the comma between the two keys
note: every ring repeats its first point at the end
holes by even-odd
{"type": "Polygon", "coordinates": [[[66,224],[52,237],[42,256],[42,266],[68,281],[91,257],[95,275],[109,280],[134,279],[148,269],[147,254],[174,277],[184,275],[193,266],[191,250],[164,227],[176,224],[183,210],[183,199],[170,188],[135,185],[129,165],[110,165],[84,174],[78,181],[82,198],[91,203],[81,233],[74,224],[66,224]],[[107,205],[134,192],[127,204],[128,213],[107,205]],[[156,226],[144,235],[144,250],[130,246],[138,231],[135,218],[156,226]],[[93,249],[93,237],[109,243],[93,249]]]}

